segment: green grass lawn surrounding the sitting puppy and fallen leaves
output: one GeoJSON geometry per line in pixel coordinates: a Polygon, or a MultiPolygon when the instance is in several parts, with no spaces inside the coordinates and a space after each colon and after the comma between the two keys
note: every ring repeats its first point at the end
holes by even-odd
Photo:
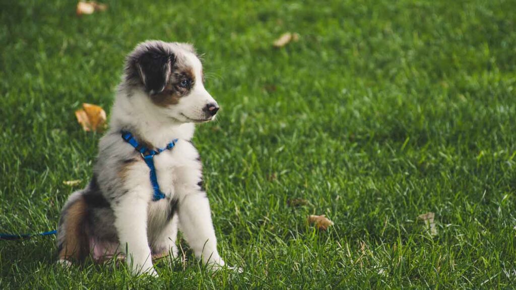
{"type": "Polygon", "coordinates": [[[185,41],[222,106],[195,138],[219,250],[245,271],[206,271],[184,241],[159,279],[64,270],[39,237],[0,241],[0,288],[516,286],[515,1],[113,0],[81,18],[73,1],[2,2],[0,232],[56,228],[101,137],[74,110],[109,115],[136,43],[185,41]],[[300,40],[273,48],[285,31],[300,40]]]}

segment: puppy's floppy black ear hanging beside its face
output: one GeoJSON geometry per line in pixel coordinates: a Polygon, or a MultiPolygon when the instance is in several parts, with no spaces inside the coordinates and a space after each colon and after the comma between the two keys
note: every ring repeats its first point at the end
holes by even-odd
{"type": "Polygon", "coordinates": [[[170,79],[173,61],[174,55],[159,47],[149,47],[137,57],[135,69],[146,91],[151,94],[163,92],[170,79]]]}

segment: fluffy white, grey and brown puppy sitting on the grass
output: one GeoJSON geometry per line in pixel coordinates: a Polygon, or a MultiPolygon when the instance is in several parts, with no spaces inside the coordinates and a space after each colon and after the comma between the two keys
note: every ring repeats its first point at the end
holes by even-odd
{"type": "Polygon", "coordinates": [[[138,44],[126,58],[91,182],[73,192],[62,208],[59,261],[117,255],[125,257],[133,273],[157,276],[152,257],[177,256],[179,227],[199,259],[224,266],[202,188],[199,153],[190,141],[195,124],[213,120],[218,109],[204,88],[202,64],[190,44],[138,44]],[[151,158],[155,182],[146,159],[151,151],[156,153],[151,158]]]}

